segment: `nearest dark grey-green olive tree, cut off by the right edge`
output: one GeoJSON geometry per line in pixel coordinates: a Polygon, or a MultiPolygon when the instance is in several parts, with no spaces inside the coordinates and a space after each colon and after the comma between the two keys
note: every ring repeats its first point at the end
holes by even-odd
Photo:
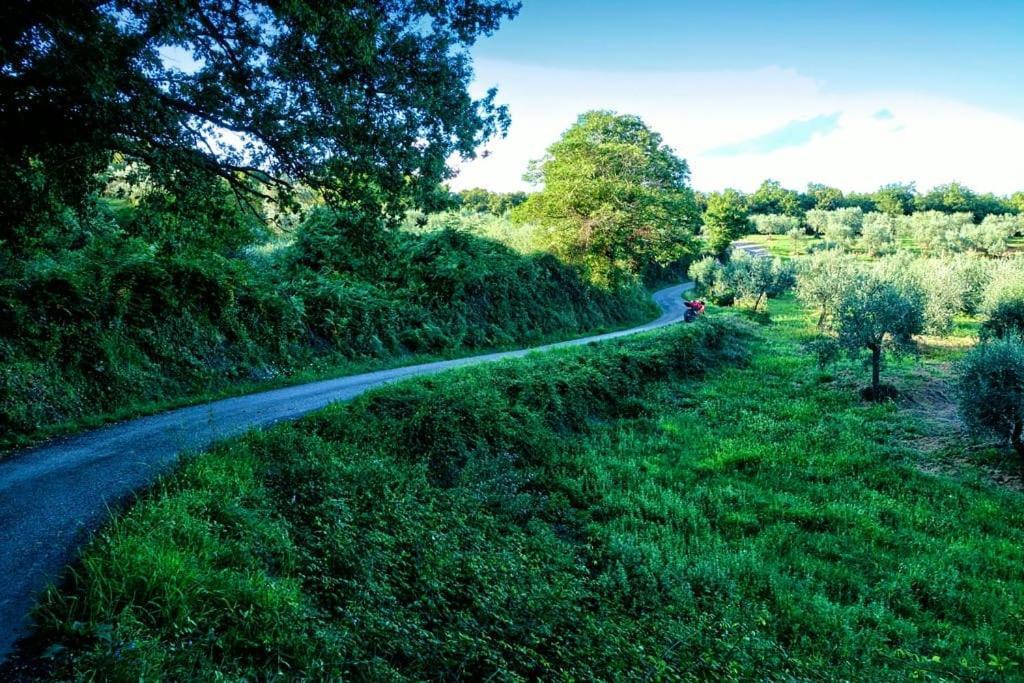
{"type": "Polygon", "coordinates": [[[977,431],[1007,439],[1024,458],[1024,342],[1019,336],[978,344],[959,364],[961,413],[977,431]]]}

